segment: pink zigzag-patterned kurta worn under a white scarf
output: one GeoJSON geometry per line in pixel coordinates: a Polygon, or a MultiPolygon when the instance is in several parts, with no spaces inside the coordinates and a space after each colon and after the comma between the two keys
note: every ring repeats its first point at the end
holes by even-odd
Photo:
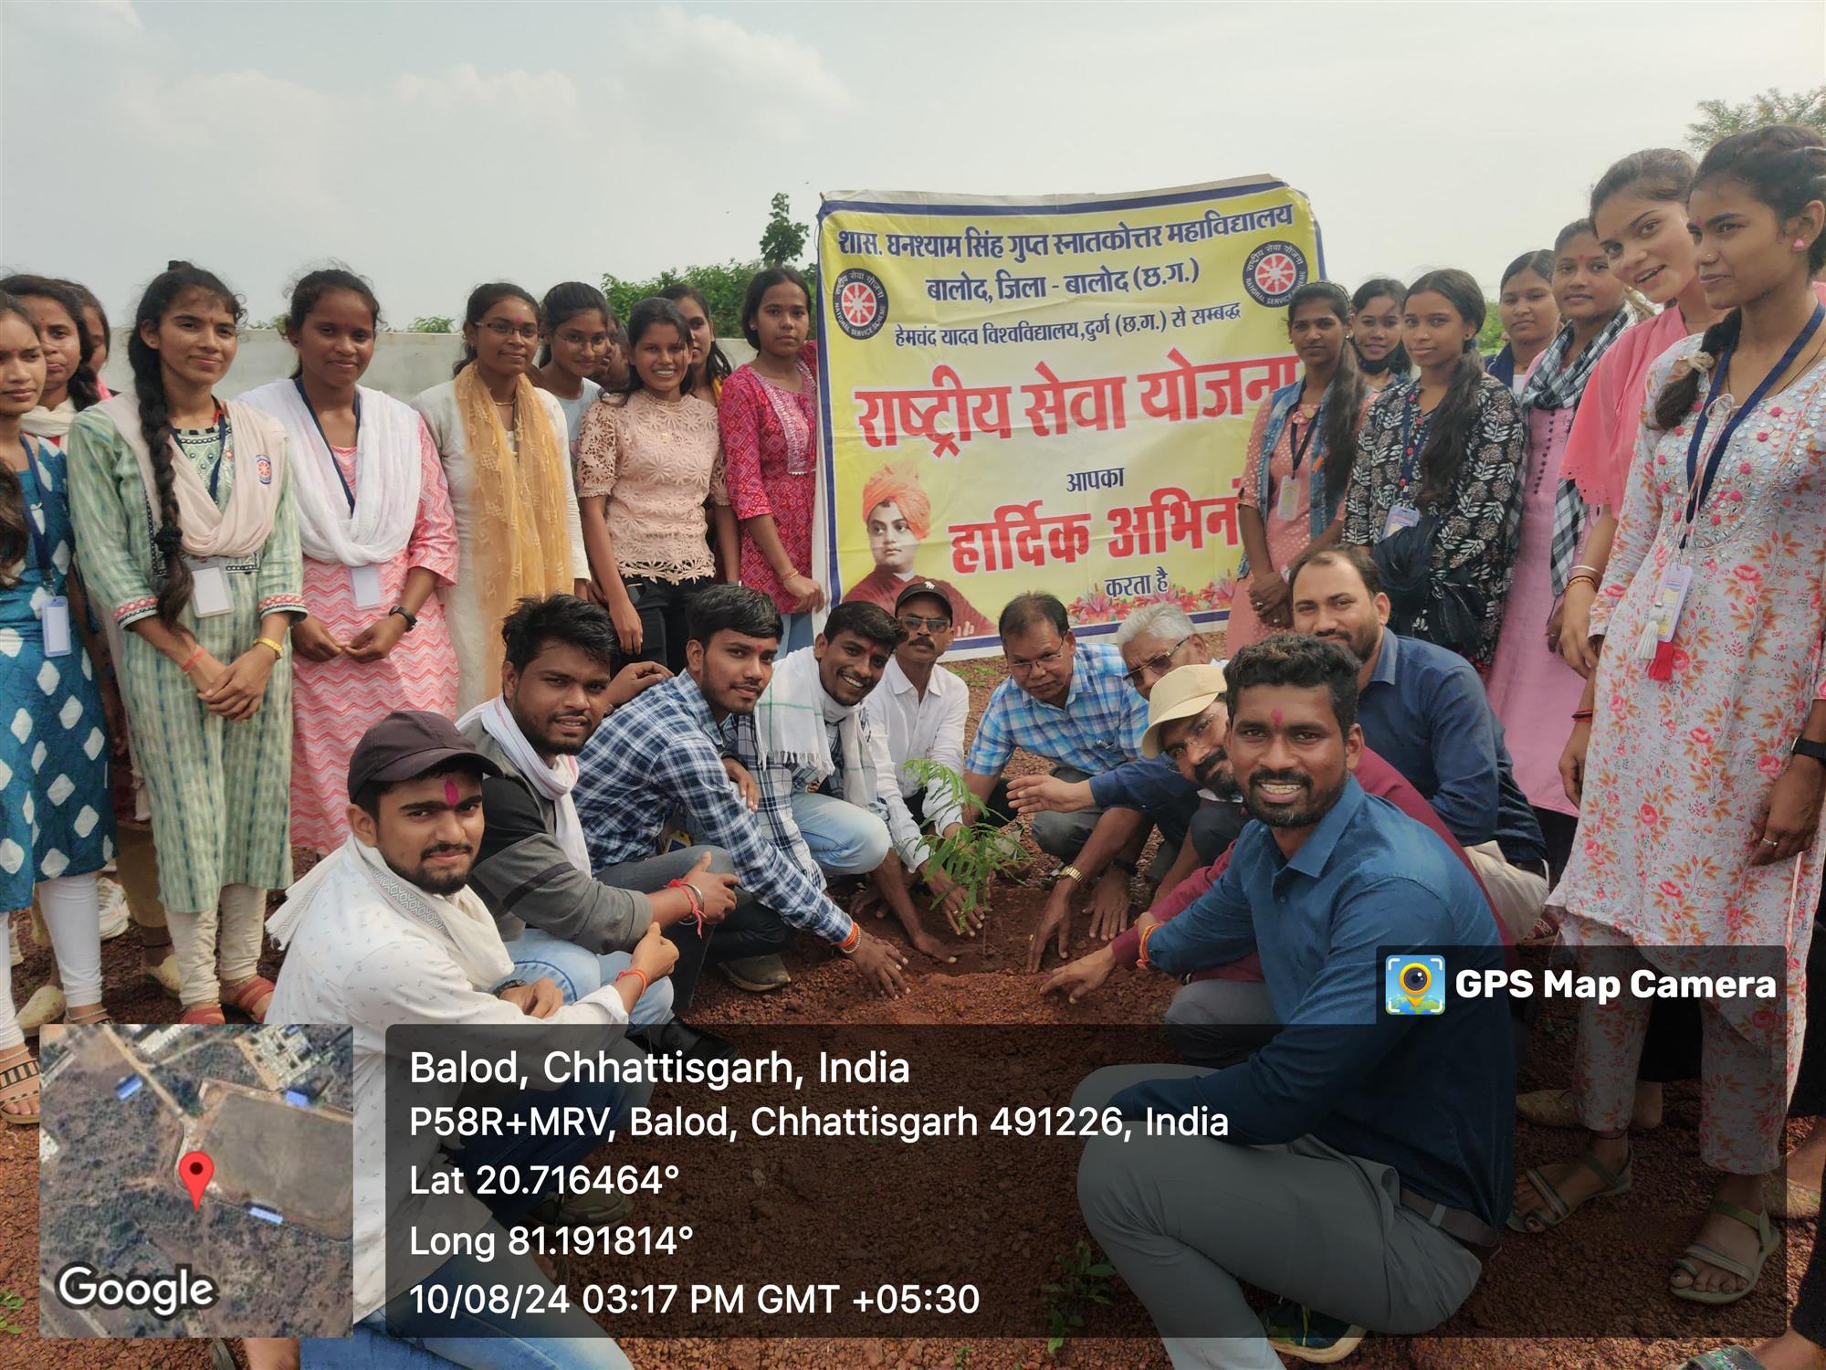
{"type": "MultiPolygon", "coordinates": [[[[354,448],[331,448],[331,455],[349,490],[360,491],[354,448]]],[[[367,729],[394,709],[456,716],[456,650],[438,597],[438,590],[456,581],[456,521],[444,462],[424,420],[418,422],[418,521],[400,555],[380,566],[378,606],[356,606],[347,566],[305,557],[305,606],[343,641],[400,603],[415,568],[424,566],[436,577],[436,590],[418,610],[418,627],[404,634],[385,659],[292,658],[292,840],[312,851],[334,851],[349,837],[349,756],[367,729]]]]}

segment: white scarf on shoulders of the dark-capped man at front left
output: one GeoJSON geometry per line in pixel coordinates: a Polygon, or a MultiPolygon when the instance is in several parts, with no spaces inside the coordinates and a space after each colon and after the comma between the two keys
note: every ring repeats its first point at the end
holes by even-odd
{"type": "Polygon", "coordinates": [[[427,895],[394,875],[380,849],[365,846],[352,833],[285,891],[279,912],[267,919],[267,932],[279,946],[287,946],[320,897],[329,899],[331,908],[347,908],[376,895],[394,913],[436,937],[473,988],[491,992],[513,974],[513,959],[478,895],[467,888],[449,899],[427,895]]]}

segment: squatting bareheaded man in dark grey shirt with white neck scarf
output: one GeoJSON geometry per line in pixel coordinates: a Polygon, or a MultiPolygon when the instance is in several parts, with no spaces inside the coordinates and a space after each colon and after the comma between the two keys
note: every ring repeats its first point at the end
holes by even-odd
{"type": "Polygon", "coordinates": [[[500,634],[502,692],[456,727],[495,764],[482,784],[488,824],[469,879],[508,955],[524,979],[551,979],[575,1001],[612,983],[628,948],[659,924],[677,943],[679,964],[666,1003],[643,997],[635,1008],[637,1036],[656,1050],[716,1049],[672,1008],[690,1006],[708,937],[734,906],[729,857],[688,848],[592,871],[572,798],[575,754],[604,712],[665,680],[665,667],[639,661],[612,676],[608,612],[575,595],[522,599],[500,634]]]}

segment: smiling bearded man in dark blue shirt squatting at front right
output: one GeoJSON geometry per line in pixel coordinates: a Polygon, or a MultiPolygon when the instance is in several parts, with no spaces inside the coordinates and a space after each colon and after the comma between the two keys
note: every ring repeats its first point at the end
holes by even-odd
{"type": "Polygon", "coordinates": [[[1450,979],[1503,948],[1470,871],[1351,776],[1355,659],[1276,634],[1225,680],[1258,822],[1191,908],[1143,919],[1141,957],[1183,974],[1258,952],[1284,1027],[1223,1070],[1092,1074],[1074,1107],[1132,1134],[1085,1147],[1077,1193],[1174,1366],[1278,1370],[1244,1280],[1397,1333],[1464,1302],[1510,1206],[1514,1067],[1501,999],[1444,994],[1444,1023],[1384,1010],[1388,954],[1443,954],[1450,979]]]}

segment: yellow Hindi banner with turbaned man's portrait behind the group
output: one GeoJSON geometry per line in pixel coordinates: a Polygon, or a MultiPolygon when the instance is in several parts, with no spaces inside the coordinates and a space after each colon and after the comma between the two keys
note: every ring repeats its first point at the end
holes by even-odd
{"type": "Polygon", "coordinates": [[[1265,175],[1128,195],[845,192],[818,210],[818,543],[836,597],[942,581],[957,654],[1023,590],[1081,636],[1172,599],[1229,617],[1256,407],[1324,274],[1265,175]]]}

